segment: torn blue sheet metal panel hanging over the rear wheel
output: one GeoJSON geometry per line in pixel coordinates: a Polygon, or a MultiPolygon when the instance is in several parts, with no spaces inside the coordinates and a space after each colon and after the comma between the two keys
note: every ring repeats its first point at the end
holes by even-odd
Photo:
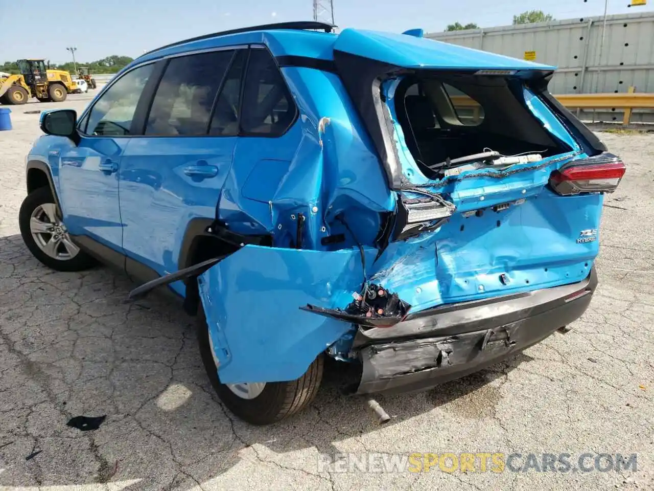
{"type": "MultiPolygon", "coordinates": [[[[374,249],[365,251],[370,261],[374,249]]],[[[345,307],[362,283],[358,249],[306,251],[245,245],[198,278],[225,384],[299,378],[351,323],[301,306],[345,307]]]]}

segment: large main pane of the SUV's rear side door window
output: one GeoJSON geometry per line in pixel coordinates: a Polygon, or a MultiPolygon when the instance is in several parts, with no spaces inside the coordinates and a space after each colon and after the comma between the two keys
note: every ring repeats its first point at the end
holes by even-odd
{"type": "Polygon", "coordinates": [[[173,58],[163,73],[145,126],[152,136],[206,135],[213,101],[233,51],[173,58]]]}

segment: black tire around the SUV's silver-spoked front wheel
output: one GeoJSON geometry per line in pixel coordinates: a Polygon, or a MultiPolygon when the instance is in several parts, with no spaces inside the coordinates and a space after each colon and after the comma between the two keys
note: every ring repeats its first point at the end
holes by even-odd
{"type": "Polygon", "coordinates": [[[63,224],[58,218],[54,222],[50,219],[50,216],[56,215],[56,210],[57,206],[48,187],[35,189],[23,200],[18,212],[18,225],[27,249],[41,263],[57,271],[82,271],[95,266],[97,264],[95,259],[84,253],[84,251],[80,251],[74,244],[71,245],[68,233],[65,231],[62,233],[61,228],[52,232],[52,234],[34,232],[33,218],[37,224],[49,225],[52,223],[53,226],[61,227],[63,224]],[[58,237],[61,240],[58,240],[58,237]],[[47,244],[54,241],[53,244],[56,243],[56,247],[54,247],[54,251],[51,250],[51,253],[54,252],[54,254],[48,255],[46,253],[48,247],[44,247],[41,241],[47,244]]]}

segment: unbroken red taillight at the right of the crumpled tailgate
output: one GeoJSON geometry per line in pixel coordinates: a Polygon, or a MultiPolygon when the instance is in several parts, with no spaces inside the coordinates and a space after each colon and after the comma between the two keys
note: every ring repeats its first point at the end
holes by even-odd
{"type": "Polygon", "coordinates": [[[611,153],[575,160],[549,177],[549,185],[559,194],[613,192],[625,175],[625,162],[611,153]]]}

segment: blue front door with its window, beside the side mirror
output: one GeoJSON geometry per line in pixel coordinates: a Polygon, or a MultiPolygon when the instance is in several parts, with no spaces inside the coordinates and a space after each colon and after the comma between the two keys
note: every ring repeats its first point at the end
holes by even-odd
{"type": "Polygon", "coordinates": [[[114,82],[80,120],[80,143],[58,156],[63,222],[81,244],[88,244],[90,238],[114,251],[122,250],[118,172],[151,72],[152,65],[143,65],[114,82]]]}

